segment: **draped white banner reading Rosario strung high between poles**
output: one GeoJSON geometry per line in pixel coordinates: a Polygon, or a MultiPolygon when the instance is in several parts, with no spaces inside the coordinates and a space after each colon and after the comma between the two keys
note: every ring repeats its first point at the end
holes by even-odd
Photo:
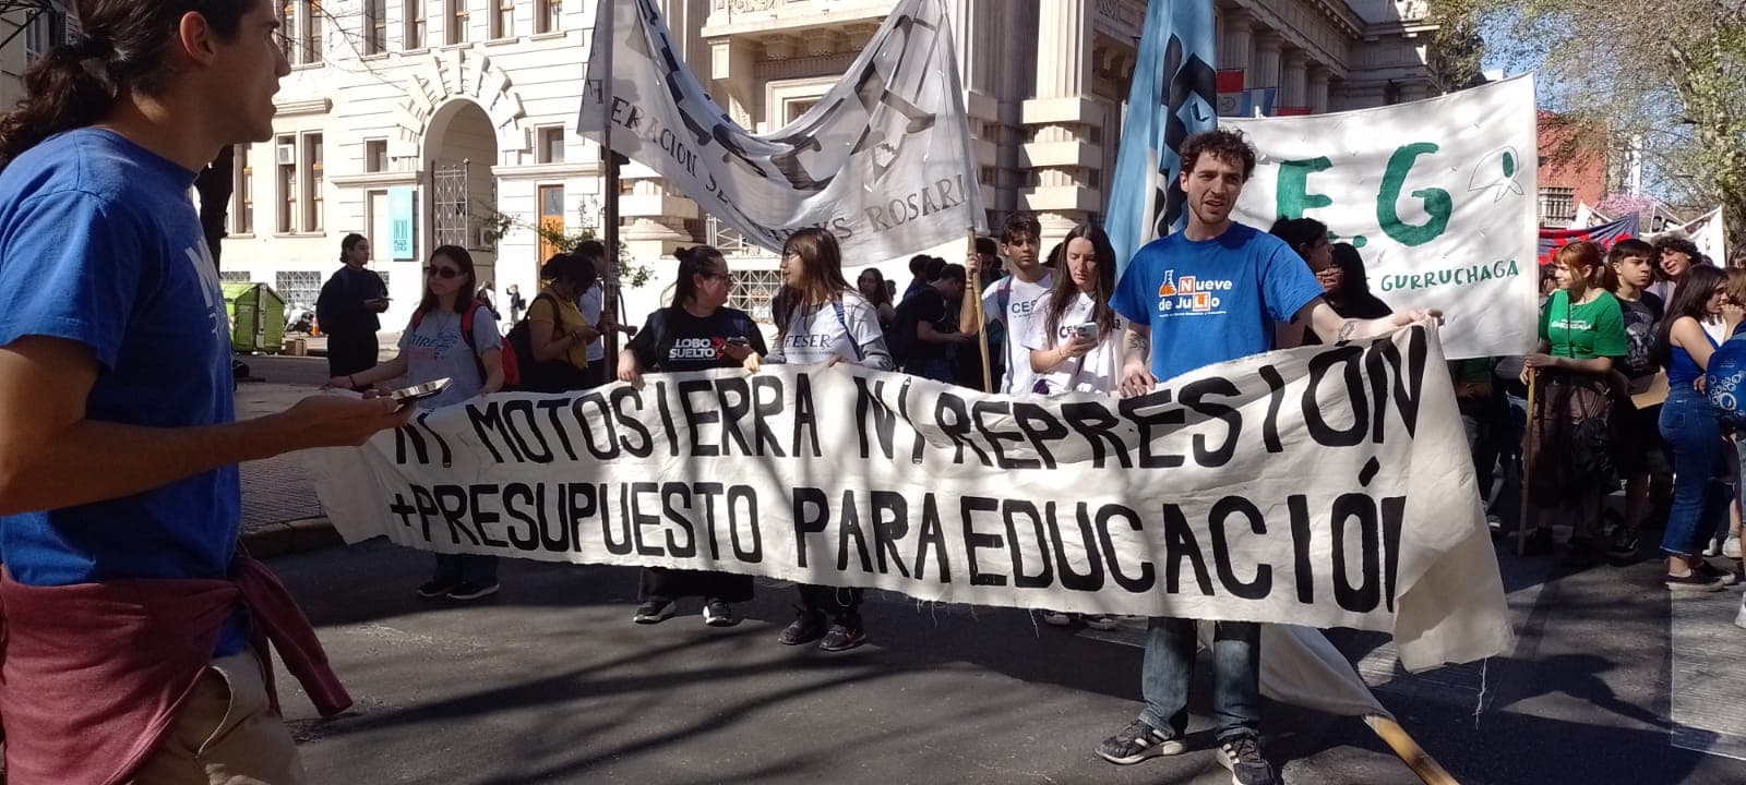
{"type": "Polygon", "coordinates": [[[794,122],[754,134],[681,59],[662,3],[601,0],[578,133],[660,173],[763,248],[831,230],[864,265],[985,230],[943,0],[899,0],[854,65],[794,122]],[[611,51],[611,105],[602,52],[611,51]]]}

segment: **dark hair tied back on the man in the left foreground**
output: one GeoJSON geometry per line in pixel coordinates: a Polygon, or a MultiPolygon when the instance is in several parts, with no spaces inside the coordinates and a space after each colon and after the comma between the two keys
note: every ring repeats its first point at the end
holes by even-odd
{"type": "Polygon", "coordinates": [[[79,0],[82,35],[24,72],[24,98],[0,119],[0,167],[49,136],[98,122],[122,91],[155,96],[175,72],[169,47],[185,14],[234,40],[258,0],[79,0]]]}

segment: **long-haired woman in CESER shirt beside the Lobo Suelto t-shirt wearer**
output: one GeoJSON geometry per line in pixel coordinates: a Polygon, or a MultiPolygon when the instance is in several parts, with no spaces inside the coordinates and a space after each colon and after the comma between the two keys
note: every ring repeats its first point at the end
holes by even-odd
{"type": "MultiPolygon", "coordinates": [[[[843,251],[822,229],[801,229],[782,244],[782,291],[770,304],[777,324],[766,363],[857,363],[890,370],[878,311],[843,279],[843,251]]],[[[782,644],[819,642],[847,651],[868,640],[861,590],[800,586],[800,614],[777,637],[782,644]]]]}

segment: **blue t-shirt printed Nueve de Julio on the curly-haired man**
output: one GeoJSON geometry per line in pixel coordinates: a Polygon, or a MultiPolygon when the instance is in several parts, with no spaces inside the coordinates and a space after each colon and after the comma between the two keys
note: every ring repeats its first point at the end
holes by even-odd
{"type": "Polygon", "coordinates": [[[1231,223],[1219,237],[1182,232],[1140,248],[1110,305],[1152,326],[1159,382],[1273,349],[1273,323],[1322,297],[1310,265],[1285,241],[1231,223]]]}

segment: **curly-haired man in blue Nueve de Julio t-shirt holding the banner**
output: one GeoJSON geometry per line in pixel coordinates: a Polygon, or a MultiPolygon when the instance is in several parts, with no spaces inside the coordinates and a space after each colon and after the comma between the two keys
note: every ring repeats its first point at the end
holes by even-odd
{"type": "MultiPolygon", "coordinates": [[[[1110,305],[1130,321],[1123,396],[1151,392],[1159,380],[1206,365],[1273,349],[1275,323],[1306,323],[1325,342],[1381,335],[1435,316],[1343,319],[1322,302],[1322,284],[1283,241],[1231,220],[1255,150],[1240,133],[1208,131],[1182,143],[1182,190],[1189,225],[1140,248],[1110,305]]],[[[1145,710],[1103,740],[1098,755],[1133,764],[1186,750],[1194,619],[1154,618],[1140,691],[1145,710]]],[[[1219,762],[1238,785],[1275,783],[1261,755],[1261,626],[1219,621],[1213,637],[1213,715],[1219,762]]]]}

